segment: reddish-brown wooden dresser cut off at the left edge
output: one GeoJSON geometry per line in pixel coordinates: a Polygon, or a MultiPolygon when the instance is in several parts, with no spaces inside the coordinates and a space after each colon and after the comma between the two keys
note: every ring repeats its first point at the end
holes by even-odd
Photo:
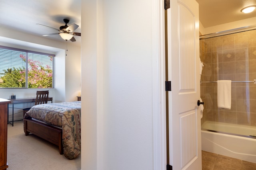
{"type": "Polygon", "coordinates": [[[7,109],[10,100],[0,98],[0,170],[8,168],[7,163],[7,109]]]}

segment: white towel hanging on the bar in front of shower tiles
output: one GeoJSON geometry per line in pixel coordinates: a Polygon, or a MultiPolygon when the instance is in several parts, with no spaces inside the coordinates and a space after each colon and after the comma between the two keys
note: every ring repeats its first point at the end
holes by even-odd
{"type": "Polygon", "coordinates": [[[217,81],[217,102],[219,108],[231,109],[231,80],[217,81]]]}

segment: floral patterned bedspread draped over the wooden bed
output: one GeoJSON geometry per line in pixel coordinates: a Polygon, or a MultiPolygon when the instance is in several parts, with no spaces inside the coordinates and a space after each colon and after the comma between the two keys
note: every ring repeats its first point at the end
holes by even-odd
{"type": "Polygon", "coordinates": [[[62,127],[62,143],[66,158],[74,159],[81,153],[81,101],[35,105],[25,117],[62,127]]]}

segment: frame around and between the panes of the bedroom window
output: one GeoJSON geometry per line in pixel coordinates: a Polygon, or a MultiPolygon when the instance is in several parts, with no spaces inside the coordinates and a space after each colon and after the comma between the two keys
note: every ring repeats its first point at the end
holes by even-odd
{"type": "MultiPolygon", "coordinates": [[[[0,87],[0,89],[43,89],[43,88],[28,88],[28,53],[32,53],[32,54],[36,54],[36,55],[52,56],[52,87],[51,88],[55,88],[55,54],[42,53],[42,52],[38,52],[38,51],[19,49],[19,48],[14,48],[14,47],[7,47],[7,46],[3,46],[3,45],[0,45],[0,48],[26,53],[26,87],[7,87],[7,88],[0,87]]],[[[51,88],[45,88],[45,89],[51,89],[51,88]]]]}

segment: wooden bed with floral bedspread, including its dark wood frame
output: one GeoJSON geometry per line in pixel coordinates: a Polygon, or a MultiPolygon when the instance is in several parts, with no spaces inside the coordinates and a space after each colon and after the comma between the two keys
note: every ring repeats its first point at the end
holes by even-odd
{"type": "Polygon", "coordinates": [[[32,133],[59,147],[68,159],[81,152],[81,101],[40,104],[24,115],[25,135],[32,133]]]}

